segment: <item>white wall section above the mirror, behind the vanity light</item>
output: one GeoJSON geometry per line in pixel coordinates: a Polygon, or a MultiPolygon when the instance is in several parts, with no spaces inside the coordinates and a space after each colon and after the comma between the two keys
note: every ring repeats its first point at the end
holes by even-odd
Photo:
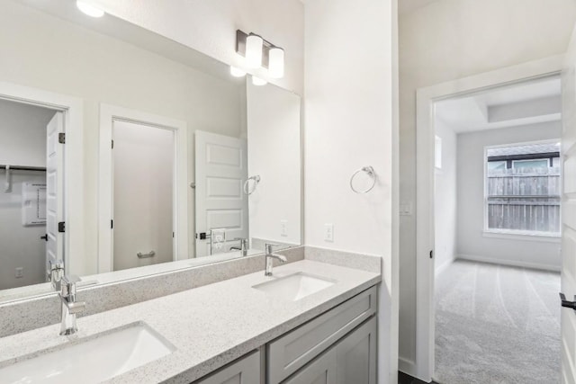
{"type": "MultiPolygon", "coordinates": [[[[284,48],[286,73],[268,79],[298,94],[303,86],[304,6],[300,0],[92,0],[121,19],[241,67],[236,30],[254,32],[284,48]]],[[[256,71],[264,76],[264,72],[256,71]]]]}

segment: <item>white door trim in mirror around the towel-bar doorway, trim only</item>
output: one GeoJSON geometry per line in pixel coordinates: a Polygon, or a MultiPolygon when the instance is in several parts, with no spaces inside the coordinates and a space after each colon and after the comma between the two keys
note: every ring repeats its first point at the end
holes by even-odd
{"type": "Polygon", "coordinates": [[[113,174],[112,127],[114,121],[126,121],[160,129],[170,129],[175,136],[173,222],[174,261],[188,258],[188,134],[187,124],[165,116],[100,104],[100,140],[98,146],[98,273],[112,272],[113,174]]]}

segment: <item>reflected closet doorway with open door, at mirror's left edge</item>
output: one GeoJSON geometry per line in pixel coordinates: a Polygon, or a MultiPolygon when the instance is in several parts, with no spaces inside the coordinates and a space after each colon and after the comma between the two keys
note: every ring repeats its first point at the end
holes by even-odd
{"type": "Polygon", "coordinates": [[[0,99],[0,127],[0,290],[6,290],[47,281],[49,263],[63,260],[64,121],[56,109],[0,99]]]}

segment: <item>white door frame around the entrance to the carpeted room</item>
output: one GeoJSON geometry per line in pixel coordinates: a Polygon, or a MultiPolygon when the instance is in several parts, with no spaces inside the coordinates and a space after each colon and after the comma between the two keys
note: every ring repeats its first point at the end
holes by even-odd
{"type": "Polygon", "coordinates": [[[558,76],[564,55],[542,58],[479,75],[419,88],[416,97],[416,359],[401,357],[401,371],[429,382],[435,372],[434,308],[434,103],[513,85],[546,76],[558,76]]]}

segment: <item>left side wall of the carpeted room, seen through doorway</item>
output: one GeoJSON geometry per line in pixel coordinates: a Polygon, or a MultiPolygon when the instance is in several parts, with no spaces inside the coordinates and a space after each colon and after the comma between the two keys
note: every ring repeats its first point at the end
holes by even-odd
{"type": "Polygon", "coordinates": [[[440,272],[456,256],[456,134],[436,121],[436,135],[442,139],[442,168],[435,169],[435,268],[440,272]]]}

